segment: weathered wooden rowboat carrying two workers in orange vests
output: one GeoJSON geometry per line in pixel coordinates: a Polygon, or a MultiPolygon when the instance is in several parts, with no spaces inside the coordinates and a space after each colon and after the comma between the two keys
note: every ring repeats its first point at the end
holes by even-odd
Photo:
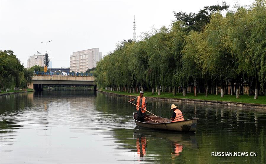
{"type": "Polygon", "coordinates": [[[140,122],[137,120],[137,112],[134,112],[133,119],[135,120],[136,125],[142,128],[195,133],[199,118],[171,122],[171,120],[168,118],[145,114],[144,121],[140,122]]]}

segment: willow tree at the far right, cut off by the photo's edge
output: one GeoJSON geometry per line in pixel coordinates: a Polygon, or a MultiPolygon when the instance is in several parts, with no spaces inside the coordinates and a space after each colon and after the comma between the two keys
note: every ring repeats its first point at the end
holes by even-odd
{"type": "Polygon", "coordinates": [[[247,22],[250,27],[250,36],[246,40],[247,48],[246,64],[249,69],[247,73],[255,76],[255,95],[258,98],[258,82],[263,90],[263,84],[266,80],[266,1],[258,0],[252,5],[248,12],[247,22]]]}

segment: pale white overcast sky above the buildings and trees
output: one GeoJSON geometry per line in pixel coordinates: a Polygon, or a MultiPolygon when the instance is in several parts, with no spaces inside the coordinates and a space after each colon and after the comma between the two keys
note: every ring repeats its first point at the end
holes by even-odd
{"type": "MultiPolygon", "coordinates": [[[[230,9],[236,1],[224,0],[230,9]]],[[[173,11],[198,12],[220,0],[127,0],[127,1],[0,1],[0,49],[13,50],[24,66],[36,50],[43,54],[45,42],[53,68],[69,67],[72,52],[99,48],[103,56],[123,39],[171,25],[173,11]],[[44,43],[40,43],[44,42],[44,43]],[[50,54],[49,52],[49,54],[50,54]]],[[[253,0],[238,1],[250,5],[253,0]]],[[[140,39],[139,37],[137,40],[140,39]]]]}

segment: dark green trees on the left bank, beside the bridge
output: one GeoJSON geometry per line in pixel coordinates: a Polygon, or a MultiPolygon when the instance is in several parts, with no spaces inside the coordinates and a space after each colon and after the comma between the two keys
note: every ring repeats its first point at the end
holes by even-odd
{"type": "Polygon", "coordinates": [[[26,69],[12,50],[0,50],[0,92],[9,88],[26,88],[33,70],[26,69]]]}

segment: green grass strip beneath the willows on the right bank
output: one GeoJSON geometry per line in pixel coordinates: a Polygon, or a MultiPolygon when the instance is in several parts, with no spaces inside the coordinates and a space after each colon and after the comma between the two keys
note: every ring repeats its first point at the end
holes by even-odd
{"type": "MultiPolygon", "coordinates": [[[[112,92],[121,95],[135,95],[138,96],[139,93],[128,93],[128,92],[118,92],[118,91],[109,91],[105,89],[101,89],[105,92],[112,92]]],[[[224,101],[224,102],[236,102],[236,103],[252,103],[252,104],[266,104],[266,96],[258,96],[257,100],[254,100],[253,96],[248,95],[239,95],[239,99],[236,99],[236,95],[224,95],[223,98],[220,98],[221,95],[208,95],[205,97],[204,93],[198,93],[196,97],[194,97],[194,93],[187,93],[186,96],[183,96],[183,93],[177,93],[173,96],[173,93],[161,92],[161,95],[158,96],[158,92],[155,92],[152,95],[151,92],[144,92],[144,97],[158,97],[158,98],[180,98],[180,99],[196,99],[196,100],[214,100],[214,101],[224,101]]]]}

